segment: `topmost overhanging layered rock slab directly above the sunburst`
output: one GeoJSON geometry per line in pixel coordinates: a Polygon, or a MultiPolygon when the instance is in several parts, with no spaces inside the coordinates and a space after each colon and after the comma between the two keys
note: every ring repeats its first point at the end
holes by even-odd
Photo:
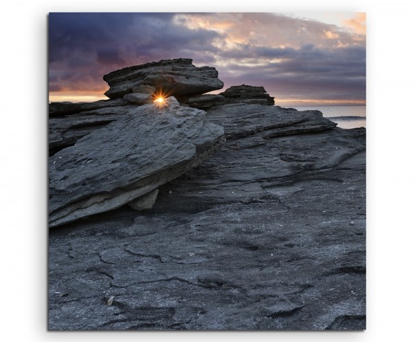
{"type": "Polygon", "coordinates": [[[216,69],[209,66],[196,68],[191,59],[160,60],[136,66],[129,66],[104,75],[109,84],[105,93],[111,99],[121,98],[140,85],[156,88],[156,93],[165,96],[192,96],[222,89],[216,69]]]}

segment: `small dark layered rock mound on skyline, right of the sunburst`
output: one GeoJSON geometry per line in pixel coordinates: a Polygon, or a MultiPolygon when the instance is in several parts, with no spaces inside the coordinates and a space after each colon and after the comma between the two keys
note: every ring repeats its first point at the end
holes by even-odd
{"type": "Polygon", "coordinates": [[[223,96],[221,104],[235,102],[269,106],[275,104],[274,98],[266,93],[264,87],[254,87],[246,84],[229,87],[223,93],[220,93],[220,95],[223,96]]]}

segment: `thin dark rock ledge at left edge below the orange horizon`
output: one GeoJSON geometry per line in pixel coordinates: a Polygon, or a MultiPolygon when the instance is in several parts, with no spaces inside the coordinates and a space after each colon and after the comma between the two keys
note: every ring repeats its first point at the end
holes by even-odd
{"type": "Polygon", "coordinates": [[[94,109],[120,107],[129,103],[118,98],[116,100],[99,100],[95,102],[51,102],[49,104],[49,117],[65,116],[79,113],[80,111],[91,111],[94,109]]]}

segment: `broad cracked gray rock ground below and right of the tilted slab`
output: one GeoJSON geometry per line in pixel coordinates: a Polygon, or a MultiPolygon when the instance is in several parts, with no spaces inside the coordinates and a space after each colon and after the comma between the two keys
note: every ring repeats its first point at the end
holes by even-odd
{"type": "Polygon", "coordinates": [[[49,329],[365,329],[365,129],[262,105],[207,118],[225,145],[153,208],[50,230],[49,329]]]}

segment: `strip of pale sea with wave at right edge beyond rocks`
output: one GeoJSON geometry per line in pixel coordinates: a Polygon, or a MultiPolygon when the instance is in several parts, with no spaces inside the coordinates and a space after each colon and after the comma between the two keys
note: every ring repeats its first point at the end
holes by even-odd
{"type": "Polygon", "coordinates": [[[366,106],[295,106],[298,111],[319,110],[324,118],[338,123],[338,127],[366,127],[366,106]]]}

